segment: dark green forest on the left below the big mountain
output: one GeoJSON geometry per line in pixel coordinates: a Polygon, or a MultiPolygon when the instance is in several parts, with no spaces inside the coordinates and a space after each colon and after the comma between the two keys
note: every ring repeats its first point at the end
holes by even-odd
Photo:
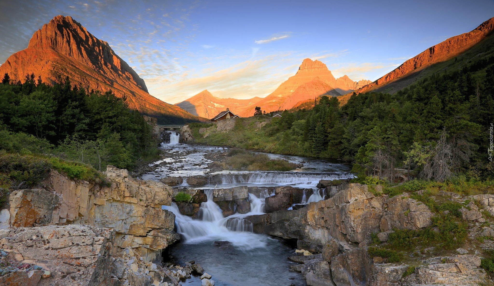
{"type": "Polygon", "coordinates": [[[6,73],[0,84],[0,149],[53,154],[105,170],[132,169],[157,154],[151,127],[112,92],[86,91],[69,77],[47,85],[6,73]]]}

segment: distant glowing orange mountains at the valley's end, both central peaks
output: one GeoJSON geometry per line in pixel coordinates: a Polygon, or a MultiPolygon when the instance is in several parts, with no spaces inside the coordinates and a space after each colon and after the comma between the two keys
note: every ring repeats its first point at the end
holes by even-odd
{"type": "Polygon", "coordinates": [[[223,99],[214,97],[205,90],[176,105],[206,118],[215,116],[225,108],[230,108],[235,114],[245,117],[252,116],[255,107],[261,107],[261,110],[266,112],[290,109],[300,102],[314,100],[322,95],[340,96],[352,92],[370,82],[353,81],[347,75],[334,78],[324,63],[305,59],[295,75],[289,77],[265,98],[223,99]]]}

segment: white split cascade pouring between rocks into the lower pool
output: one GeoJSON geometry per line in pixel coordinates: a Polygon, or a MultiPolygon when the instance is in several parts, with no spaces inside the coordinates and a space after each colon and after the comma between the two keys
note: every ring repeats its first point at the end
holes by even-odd
{"type": "Polygon", "coordinates": [[[177,232],[181,233],[186,243],[201,242],[207,240],[226,240],[234,246],[243,249],[264,247],[265,237],[252,233],[252,223],[244,217],[252,214],[264,214],[265,198],[270,196],[267,190],[258,198],[248,194],[250,212],[247,214],[232,214],[223,217],[219,206],[213,201],[213,189],[205,190],[207,201],[201,203],[199,210],[200,219],[193,219],[180,214],[178,207],[172,203],[170,211],[175,214],[177,232]]]}

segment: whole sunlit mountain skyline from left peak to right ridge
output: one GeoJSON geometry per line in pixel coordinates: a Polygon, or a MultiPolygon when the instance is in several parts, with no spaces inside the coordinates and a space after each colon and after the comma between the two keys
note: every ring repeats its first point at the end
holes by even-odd
{"type": "Polygon", "coordinates": [[[245,117],[253,115],[255,107],[267,112],[309,107],[322,95],[336,96],[345,103],[354,93],[396,93],[431,74],[461,70],[473,60],[494,57],[493,30],[491,18],[471,32],[428,48],[373,82],[353,81],[347,75],[335,78],[324,63],[305,59],[296,74],[267,97],[224,99],[204,90],[170,105],[151,96],[144,80],[106,41],[91,35],[72,17],[60,15],[34,33],[28,48],[11,55],[0,66],[0,75],[8,73],[12,80],[24,81],[27,74],[34,73],[48,84],[69,76],[72,84],[86,90],[111,90],[119,97],[125,96],[130,108],[161,117],[162,122],[205,121],[226,108],[245,117]]]}

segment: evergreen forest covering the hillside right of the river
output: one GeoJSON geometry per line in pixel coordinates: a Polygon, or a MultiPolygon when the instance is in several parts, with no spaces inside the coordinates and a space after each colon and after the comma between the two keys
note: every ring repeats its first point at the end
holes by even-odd
{"type": "MultiPolygon", "coordinates": [[[[311,110],[281,118],[235,145],[352,161],[360,177],[493,178],[494,58],[429,76],[395,94],[354,94],[345,105],[323,96],[311,110]]],[[[212,137],[214,138],[214,137],[212,137]]],[[[233,141],[232,141],[233,142],[233,141]]]]}

